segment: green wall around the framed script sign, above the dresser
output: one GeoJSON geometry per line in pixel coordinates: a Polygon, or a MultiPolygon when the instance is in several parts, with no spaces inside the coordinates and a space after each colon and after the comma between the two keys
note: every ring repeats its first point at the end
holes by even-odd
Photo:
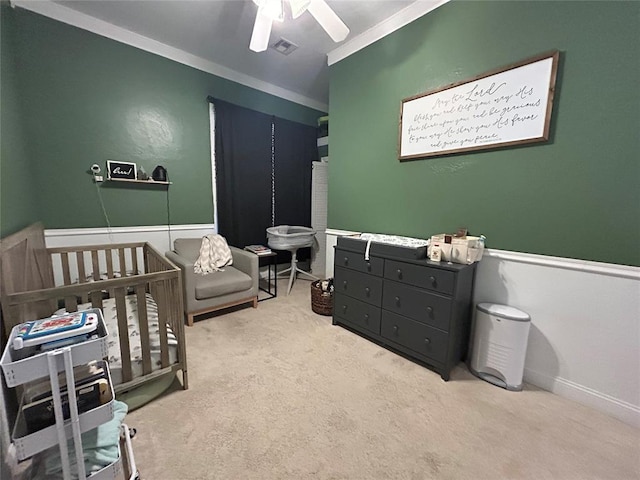
{"type": "Polygon", "coordinates": [[[453,1],[331,67],[329,226],[640,265],[640,3],[453,1]],[[400,102],[561,51],[547,143],[399,162],[400,102]]]}

